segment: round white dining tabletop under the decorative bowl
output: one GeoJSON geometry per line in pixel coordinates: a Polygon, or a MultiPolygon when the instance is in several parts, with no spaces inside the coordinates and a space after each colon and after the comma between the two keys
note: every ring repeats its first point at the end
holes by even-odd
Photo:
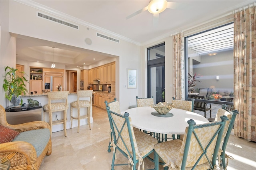
{"type": "Polygon", "coordinates": [[[125,112],[129,113],[133,127],[162,134],[184,134],[188,126],[187,121],[190,119],[193,119],[197,125],[209,122],[197,113],[176,108],[169,111],[173,114],[172,117],[152,115],[152,112],[156,112],[152,107],[135,107],[125,112]]]}

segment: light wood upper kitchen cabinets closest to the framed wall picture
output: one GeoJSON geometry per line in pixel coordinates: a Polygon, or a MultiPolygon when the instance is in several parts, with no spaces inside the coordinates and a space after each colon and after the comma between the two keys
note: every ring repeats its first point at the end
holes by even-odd
{"type": "Polygon", "coordinates": [[[100,84],[116,83],[116,64],[108,63],[100,67],[100,84]]]}

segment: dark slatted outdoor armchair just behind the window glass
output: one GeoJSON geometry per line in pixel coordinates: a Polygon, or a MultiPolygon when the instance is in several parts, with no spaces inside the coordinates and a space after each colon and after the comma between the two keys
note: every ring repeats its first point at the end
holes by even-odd
{"type": "Polygon", "coordinates": [[[196,101],[196,99],[205,100],[204,96],[188,95],[188,98],[195,99],[195,101],[194,101],[194,111],[195,110],[203,111],[204,112],[204,117],[206,117],[206,112],[210,111],[210,118],[212,117],[212,105],[211,105],[211,103],[210,103],[210,107],[208,107],[206,102],[204,102],[204,101],[196,101]]]}

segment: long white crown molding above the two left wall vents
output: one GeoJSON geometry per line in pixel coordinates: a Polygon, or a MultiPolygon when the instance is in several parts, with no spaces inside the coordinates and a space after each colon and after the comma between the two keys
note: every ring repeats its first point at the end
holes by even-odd
{"type": "Polygon", "coordinates": [[[110,35],[110,36],[114,36],[114,37],[119,38],[119,39],[121,39],[121,40],[124,40],[124,41],[126,41],[126,42],[130,42],[130,43],[133,43],[133,44],[139,45],[139,46],[142,45],[142,44],[139,43],[139,42],[136,42],[136,41],[134,41],[134,40],[131,40],[130,38],[121,36],[121,35],[119,35],[119,34],[116,34],[116,33],[114,33],[114,32],[111,32],[111,31],[109,31],[109,30],[106,30],[106,29],[104,29],[104,28],[95,26],[95,25],[93,25],[93,24],[90,24],[89,22],[86,22],[86,21],[84,21],[84,20],[80,20],[80,19],[78,19],[78,18],[75,18],[75,17],[70,16],[70,15],[68,15],[68,14],[65,14],[65,13],[63,13],[63,12],[54,10],[54,9],[52,9],[52,8],[49,8],[49,7],[44,6],[44,5],[42,5],[42,4],[39,4],[39,3],[35,2],[35,1],[32,1],[32,0],[13,0],[13,1],[19,2],[19,3],[24,4],[24,5],[27,5],[27,6],[30,6],[30,7],[32,7],[32,8],[36,8],[36,9],[38,9],[38,10],[47,12],[47,13],[49,13],[49,14],[52,14],[52,15],[55,15],[55,16],[58,16],[58,17],[61,17],[61,18],[65,18],[66,20],[70,20],[71,22],[75,22],[75,23],[80,24],[80,25],[82,25],[82,26],[92,28],[92,29],[94,29],[94,30],[96,30],[96,31],[98,31],[98,32],[102,32],[102,33],[104,33],[104,34],[108,34],[108,35],[110,35]]]}

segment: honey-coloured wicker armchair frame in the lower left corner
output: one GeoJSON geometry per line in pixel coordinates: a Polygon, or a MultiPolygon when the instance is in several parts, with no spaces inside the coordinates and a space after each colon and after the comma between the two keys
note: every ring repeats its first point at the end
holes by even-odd
{"type": "MultiPolygon", "coordinates": [[[[50,137],[50,126],[48,123],[43,121],[35,121],[35,122],[29,122],[29,123],[23,123],[20,125],[10,125],[6,121],[6,113],[4,107],[0,105],[0,125],[15,130],[17,132],[20,132],[20,134],[16,137],[18,138],[23,133],[30,133],[34,132],[34,134],[39,135],[38,130],[44,130],[48,129],[48,136],[50,137]]],[[[32,136],[33,138],[37,138],[37,136],[32,136]]],[[[28,140],[28,138],[25,138],[28,140]]],[[[40,140],[37,138],[37,140],[40,140]]],[[[38,170],[42,160],[44,159],[44,156],[49,156],[52,153],[52,140],[51,138],[48,140],[46,139],[46,146],[45,148],[42,148],[42,152],[40,155],[37,155],[36,149],[32,144],[24,141],[13,141],[13,142],[7,142],[7,143],[1,143],[0,144],[0,158],[7,158],[10,160],[10,169],[15,170],[38,170]]]]}

